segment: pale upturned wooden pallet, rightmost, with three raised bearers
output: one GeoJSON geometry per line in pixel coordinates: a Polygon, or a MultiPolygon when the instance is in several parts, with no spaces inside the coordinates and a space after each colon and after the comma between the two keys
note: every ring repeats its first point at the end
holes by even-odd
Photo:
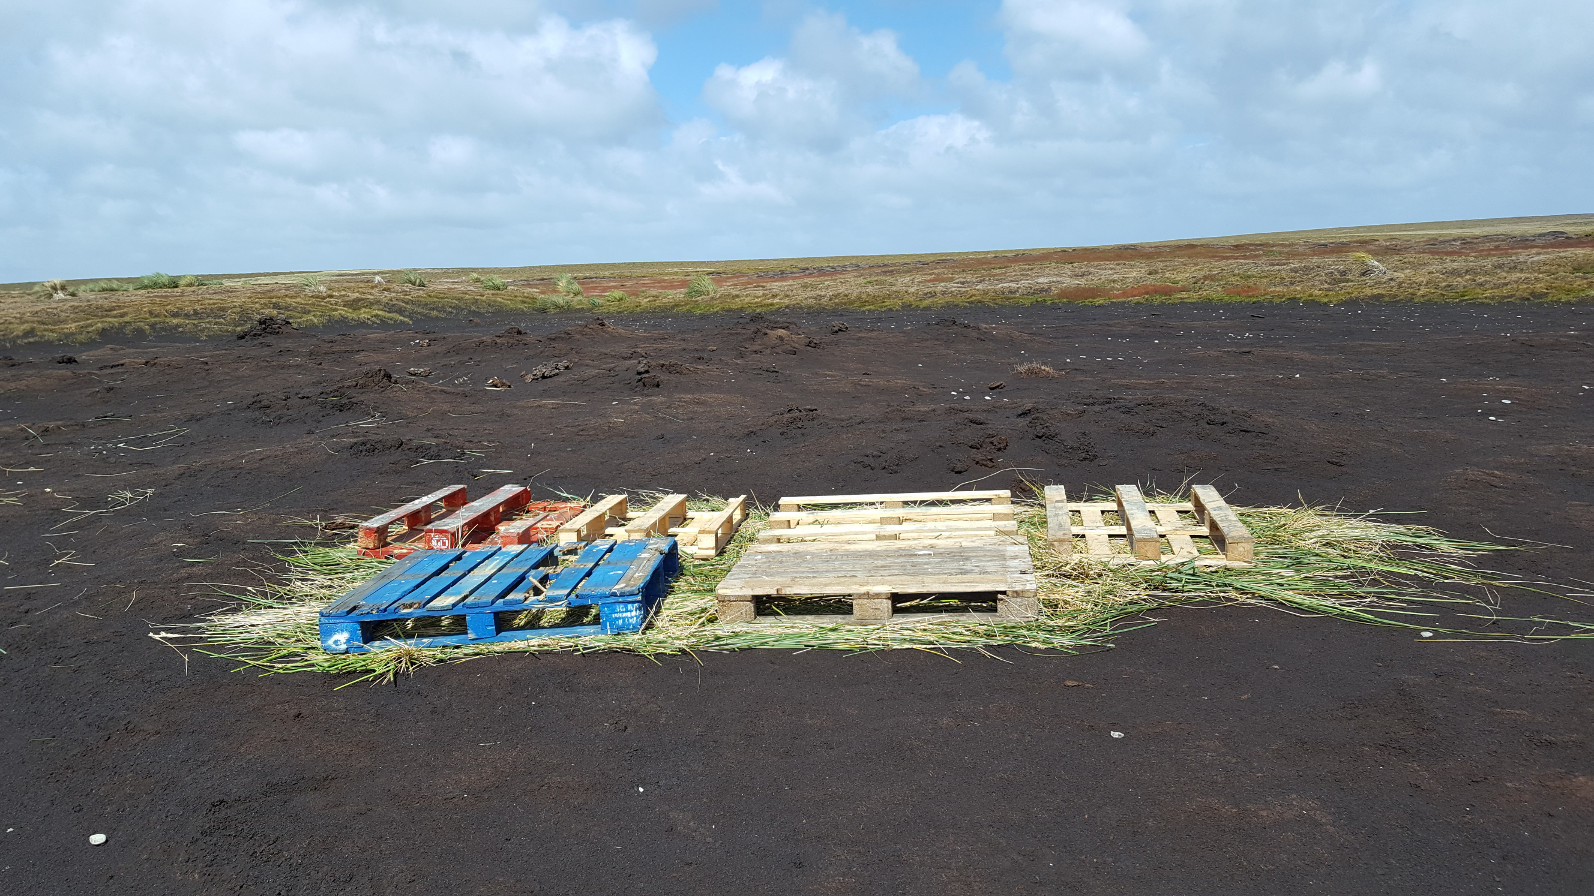
{"type": "Polygon", "coordinates": [[[1113,493],[1114,501],[1071,502],[1063,486],[1046,486],[1052,548],[1105,563],[1250,566],[1254,558],[1251,531],[1210,485],[1192,486],[1189,502],[1148,504],[1133,485],[1113,493]]]}

